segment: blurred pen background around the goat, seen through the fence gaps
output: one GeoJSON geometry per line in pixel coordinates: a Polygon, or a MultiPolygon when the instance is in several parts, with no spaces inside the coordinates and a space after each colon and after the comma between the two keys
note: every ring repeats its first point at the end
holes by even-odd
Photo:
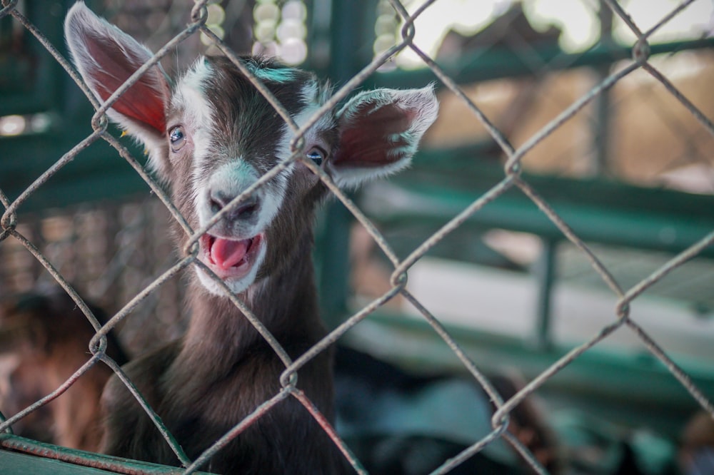
{"type": "MultiPolygon", "coordinates": [[[[61,25],[71,3],[20,1],[17,8],[64,53],[61,25]]],[[[403,3],[409,13],[424,6],[403,3]]],[[[714,136],[706,126],[714,117],[714,4],[689,3],[668,18],[680,2],[619,2],[641,31],[656,27],[648,36],[650,64],[703,119],[662,81],[638,69],[528,148],[521,160],[523,180],[625,291],[714,230],[714,136]]],[[[188,0],[88,4],[154,51],[185,28],[193,6],[188,0]]],[[[207,24],[238,53],[276,55],[336,87],[400,44],[404,26],[386,0],[210,2],[207,24]]],[[[413,44],[516,149],[628,66],[637,40],[599,0],[438,0],[414,26],[413,44]]],[[[162,64],[177,72],[198,53],[216,52],[194,35],[162,64]]],[[[411,170],[354,196],[401,258],[506,176],[501,145],[413,49],[390,56],[363,88],[432,82],[440,116],[411,170]]],[[[92,112],[24,26],[11,16],[1,18],[0,190],[17,198],[91,133],[92,112]]],[[[166,239],[168,219],[134,170],[109,145],[97,143],[31,195],[19,208],[17,229],[111,315],[176,262],[166,239]]],[[[630,317],[710,398],[712,257],[713,247],[706,247],[630,304],[630,317]]],[[[321,213],[315,260],[328,326],[391,288],[393,265],[336,200],[321,213]]],[[[588,255],[517,188],[470,215],[408,277],[410,292],[487,372],[516,371],[533,379],[618,318],[618,295],[588,255]]],[[[0,297],[52,280],[19,242],[0,242],[0,297]]],[[[130,353],[181,334],[182,295],[181,279],[167,282],[121,324],[119,337],[130,353]]],[[[421,312],[399,295],[342,342],[415,374],[465,371],[421,312]]],[[[581,471],[573,473],[615,473],[628,450],[651,462],[640,461],[642,473],[670,473],[685,424],[698,410],[625,327],[535,394],[567,440],[565,451],[580,463],[581,471]]]]}

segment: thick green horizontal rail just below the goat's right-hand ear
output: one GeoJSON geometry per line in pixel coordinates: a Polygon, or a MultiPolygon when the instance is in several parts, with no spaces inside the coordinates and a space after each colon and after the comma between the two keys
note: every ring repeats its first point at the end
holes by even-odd
{"type": "MultiPolygon", "coordinates": [[[[382,225],[406,225],[414,220],[441,225],[506,176],[493,164],[471,165],[458,175],[426,165],[436,160],[446,162],[449,155],[443,151],[422,153],[414,170],[391,178],[401,190],[411,193],[414,205],[392,205],[388,197],[381,203],[371,194],[366,206],[373,218],[382,225]],[[430,203],[428,207],[418,205],[424,200],[430,203]]],[[[710,195],[642,188],[603,178],[524,174],[523,180],[585,241],[680,252],[714,230],[714,197],[710,195]]],[[[554,240],[564,237],[515,187],[472,215],[465,225],[523,231],[554,240]]],[[[701,255],[714,257],[714,249],[710,246],[701,255]]]]}

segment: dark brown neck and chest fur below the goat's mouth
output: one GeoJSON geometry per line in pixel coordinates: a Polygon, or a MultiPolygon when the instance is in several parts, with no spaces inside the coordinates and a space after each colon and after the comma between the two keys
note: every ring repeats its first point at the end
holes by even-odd
{"type": "MultiPolygon", "coordinates": [[[[303,240],[310,240],[310,233],[304,233],[303,240]]],[[[271,277],[252,305],[293,358],[323,335],[310,258],[309,253],[293,255],[293,262],[271,277]]],[[[190,305],[193,320],[183,339],[131,362],[124,370],[193,459],[277,394],[285,367],[227,299],[194,289],[190,305]]],[[[298,372],[298,387],[328,419],[333,417],[331,372],[331,355],[326,353],[298,372]]],[[[176,464],[166,441],[118,379],[111,380],[104,397],[110,427],[105,451],[176,464]]],[[[313,417],[290,397],[248,427],[203,469],[339,474],[343,473],[341,459],[313,417]]]]}

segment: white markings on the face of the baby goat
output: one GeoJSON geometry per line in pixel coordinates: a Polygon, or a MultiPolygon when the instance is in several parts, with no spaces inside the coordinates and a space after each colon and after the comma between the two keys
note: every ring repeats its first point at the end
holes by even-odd
{"type": "MultiPolygon", "coordinates": [[[[206,225],[216,213],[214,207],[211,206],[211,190],[213,190],[214,193],[220,190],[221,195],[228,199],[241,195],[244,190],[253,185],[253,183],[261,177],[261,173],[258,172],[256,167],[251,163],[251,160],[265,159],[265,157],[253,157],[248,160],[246,158],[237,157],[218,166],[218,168],[212,170],[211,173],[205,173],[205,170],[211,169],[211,164],[208,163],[208,160],[211,160],[211,157],[208,156],[208,145],[210,143],[210,134],[213,132],[211,130],[211,123],[213,123],[214,118],[211,115],[208,101],[202,96],[202,91],[203,84],[205,83],[203,78],[210,73],[210,68],[197,63],[179,83],[174,103],[176,108],[185,111],[186,126],[191,129],[193,133],[194,158],[192,181],[198,224],[201,225],[201,227],[206,225]]],[[[292,78],[294,73],[289,70],[259,70],[256,74],[271,81],[281,79],[287,81],[292,78]]],[[[320,106],[319,101],[321,100],[321,98],[318,98],[319,91],[320,89],[315,81],[311,81],[301,88],[301,96],[304,101],[308,103],[308,106],[305,106],[293,117],[293,121],[296,122],[298,127],[310,120],[313,114],[318,110],[320,106]]],[[[311,143],[315,143],[318,136],[316,131],[321,128],[333,127],[333,122],[334,119],[331,114],[321,117],[318,122],[311,127],[311,130],[306,133],[305,145],[310,146],[311,143]]],[[[292,155],[290,143],[294,137],[292,129],[287,124],[284,124],[281,129],[281,135],[276,144],[275,158],[278,160],[278,163],[287,160],[292,155]]],[[[256,218],[242,221],[240,219],[231,220],[231,218],[229,218],[230,213],[227,213],[226,218],[224,218],[225,220],[216,223],[213,228],[208,230],[208,234],[223,239],[243,240],[253,239],[258,235],[260,236],[258,241],[253,241],[256,242],[256,248],[251,251],[253,253],[249,260],[250,267],[246,275],[242,275],[241,277],[237,275],[234,277],[226,274],[220,275],[220,277],[223,278],[223,282],[231,289],[231,292],[238,293],[248,290],[248,297],[251,298],[256,297],[256,295],[261,292],[264,282],[257,282],[254,285],[254,281],[265,259],[267,247],[270,245],[270,242],[266,241],[265,232],[283,206],[286,190],[288,186],[290,186],[291,177],[293,173],[295,173],[296,167],[297,165],[295,163],[289,164],[285,170],[282,170],[281,173],[278,173],[272,180],[253,192],[253,195],[258,198],[260,203],[256,218]]],[[[208,250],[203,250],[203,252],[206,251],[208,250]]],[[[212,264],[206,262],[205,254],[203,255],[202,261],[209,267],[212,266],[212,264]]],[[[213,267],[211,267],[211,269],[213,269],[213,267]]],[[[208,277],[206,272],[203,272],[198,267],[196,267],[196,271],[198,280],[208,292],[216,295],[222,294],[221,286],[211,277],[208,277]]],[[[217,275],[219,274],[218,272],[216,273],[217,275]]]]}

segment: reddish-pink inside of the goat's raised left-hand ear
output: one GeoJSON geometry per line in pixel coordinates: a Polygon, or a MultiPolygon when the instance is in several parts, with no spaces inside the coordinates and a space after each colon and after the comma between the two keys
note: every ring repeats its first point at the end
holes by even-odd
{"type": "MultiPolygon", "coordinates": [[[[102,65],[91,71],[95,81],[94,88],[103,101],[106,101],[137,68],[144,63],[143,58],[131,55],[130,50],[121,50],[114,41],[96,37],[86,41],[89,55],[96,63],[102,65]]],[[[164,116],[165,91],[161,91],[161,80],[152,81],[156,74],[161,75],[158,68],[149,69],[144,76],[139,78],[133,86],[121,95],[111,106],[115,111],[154,128],[159,133],[166,131],[166,118],[164,116]]]]}

